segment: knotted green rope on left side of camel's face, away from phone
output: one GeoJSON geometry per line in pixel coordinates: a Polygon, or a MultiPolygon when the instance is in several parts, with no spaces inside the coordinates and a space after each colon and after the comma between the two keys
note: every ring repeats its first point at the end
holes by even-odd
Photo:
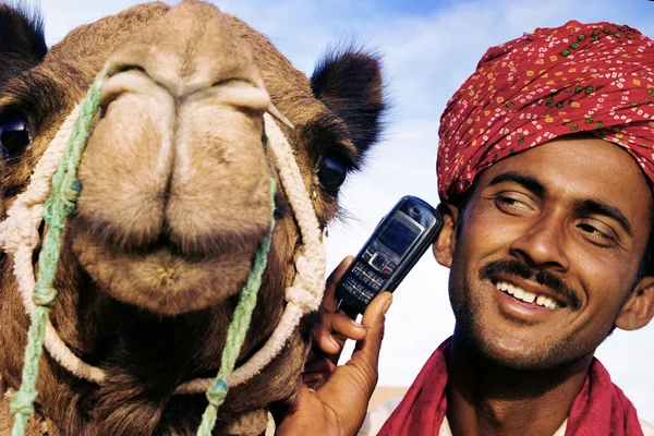
{"type": "Polygon", "coordinates": [[[75,177],[93,120],[100,105],[102,89],[99,77],[101,76],[102,73],[98,75],[98,78],[88,89],[80,108],[80,117],[75,121],[63,158],[52,178],[52,191],[44,209],[44,219],[48,223],[48,230],[38,258],[38,279],[32,298],[35,308],[27,331],[23,382],[19,391],[10,400],[10,410],[14,415],[12,436],[23,436],[25,434],[27,421],[34,413],[34,400],[37,395],[35,386],[48,313],[55,296],[57,296],[57,290],[52,283],[59,265],[62,233],[65,227],[65,218],[75,209],[75,202],[82,191],[82,185],[75,177]]]}

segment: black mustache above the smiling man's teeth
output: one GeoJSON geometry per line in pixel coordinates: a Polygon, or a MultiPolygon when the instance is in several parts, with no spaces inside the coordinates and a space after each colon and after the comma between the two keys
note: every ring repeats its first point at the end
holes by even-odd
{"type": "Polygon", "coordinates": [[[524,263],[516,259],[501,259],[493,261],[482,269],[480,269],[480,279],[491,279],[499,274],[506,274],[511,276],[518,276],[525,280],[532,280],[536,283],[544,286],[554,292],[555,295],[560,296],[573,311],[581,308],[581,301],[577,293],[566,282],[554,274],[546,270],[533,269],[526,266],[524,263]]]}

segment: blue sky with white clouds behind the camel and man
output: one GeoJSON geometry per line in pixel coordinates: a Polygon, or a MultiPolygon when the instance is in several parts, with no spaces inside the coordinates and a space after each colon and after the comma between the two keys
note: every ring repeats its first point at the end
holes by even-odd
{"type": "MultiPolygon", "coordinates": [[[[68,31],[135,4],[129,0],[45,0],[49,44],[68,31]]],[[[362,174],[342,195],[352,215],[330,229],[329,270],[358,252],[379,218],[404,194],[436,205],[435,158],[438,120],[446,101],[470,75],[487,47],[569,20],[629,24],[654,37],[654,2],[646,0],[228,0],[225,12],[267,35],[301,71],[311,74],[326,46],[352,37],[385,57],[393,101],[385,140],[362,174]]],[[[396,292],[388,314],[379,384],[405,386],[432,351],[447,338],[453,317],[447,269],[427,253],[396,292]]],[[[654,422],[654,327],[617,331],[598,358],[642,417],[654,422]]]]}

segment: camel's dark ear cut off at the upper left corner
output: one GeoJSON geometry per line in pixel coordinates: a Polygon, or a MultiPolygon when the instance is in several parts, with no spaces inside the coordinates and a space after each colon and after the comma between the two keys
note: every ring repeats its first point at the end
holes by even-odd
{"type": "Polygon", "coordinates": [[[39,64],[47,52],[38,11],[0,3],[0,83],[39,64]]]}

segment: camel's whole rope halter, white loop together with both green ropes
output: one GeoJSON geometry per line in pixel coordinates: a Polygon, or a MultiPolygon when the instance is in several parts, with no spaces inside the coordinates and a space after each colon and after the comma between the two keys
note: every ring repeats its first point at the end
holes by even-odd
{"type": "MultiPolygon", "coordinates": [[[[21,389],[11,399],[11,411],[15,415],[12,436],[24,435],[27,421],[34,413],[38,362],[44,344],[52,359],[71,374],[96,384],[102,384],[106,377],[101,368],[83,362],[68,348],[48,318],[49,308],[57,294],[52,281],[57,272],[61,239],[65,230],[64,221],[68,215],[74,211],[75,202],[82,191],[82,186],[76,180],[77,167],[99,108],[99,97],[105,81],[106,76],[102,71],[96,77],[84,101],[75,107],[65,119],[36,165],[29,185],[16,197],[7,213],[7,219],[0,222],[0,249],[13,255],[13,272],[17,280],[25,312],[32,318],[25,349],[23,383],[21,389]],[[38,280],[36,280],[32,259],[40,240],[38,229],[44,219],[48,223],[48,230],[39,253],[39,272],[38,280]]],[[[283,349],[302,316],[317,310],[323,299],[325,250],[319,223],[292,148],[274,117],[287,125],[290,123],[272,105],[270,105],[268,113],[264,114],[265,132],[272,161],[277,167],[279,179],[293,209],[302,237],[302,245],[294,258],[296,275],[293,284],[286,290],[287,305],[279,324],[264,347],[247,362],[234,370],[235,360],[245,339],[252,311],[256,304],[256,293],[261,287],[261,278],[270,247],[275,210],[275,182],[271,180],[270,230],[259,244],[247,281],[241,291],[234,317],[228,329],[218,376],[216,378],[197,378],[184,383],[175,389],[175,393],[203,391],[207,393],[209,404],[203,415],[198,435],[210,435],[215,426],[218,407],[225,401],[228,389],[259,374],[283,349]]]]}

